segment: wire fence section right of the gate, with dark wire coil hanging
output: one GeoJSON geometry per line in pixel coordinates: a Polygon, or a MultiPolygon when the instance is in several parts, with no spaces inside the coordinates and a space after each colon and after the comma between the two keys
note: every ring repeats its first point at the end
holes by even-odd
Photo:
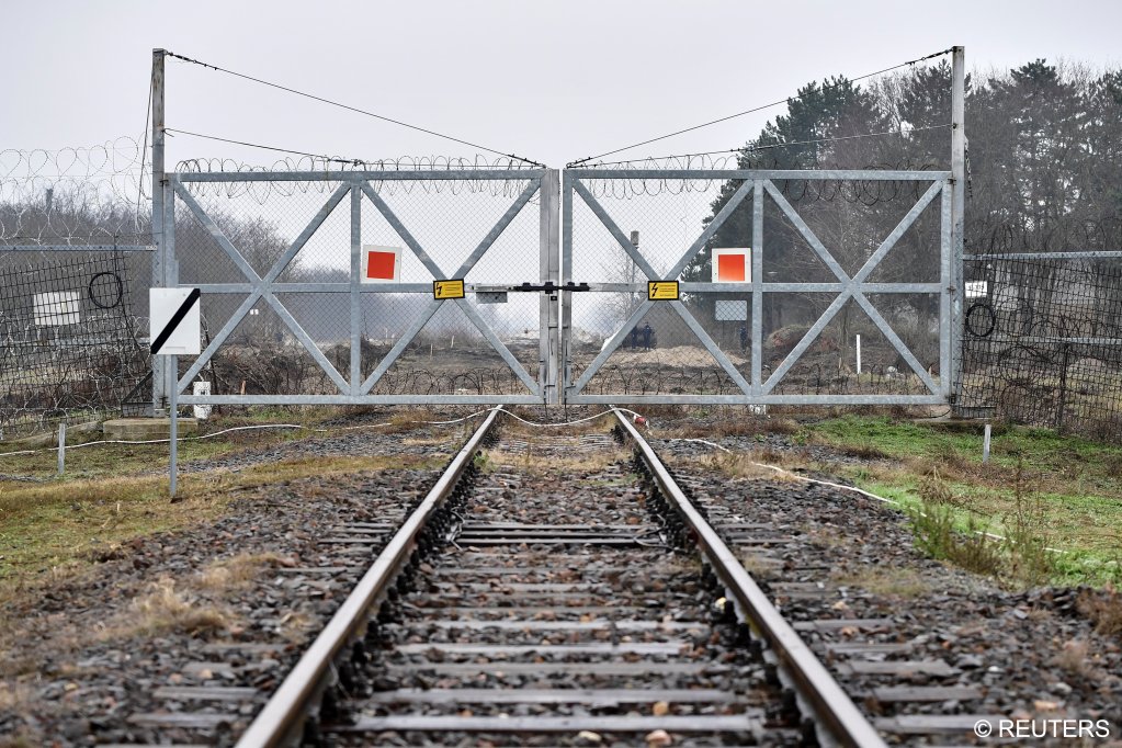
{"type": "Polygon", "coordinates": [[[1122,253],[969,257],[959,409],[1122,438],[1122,253]]]}

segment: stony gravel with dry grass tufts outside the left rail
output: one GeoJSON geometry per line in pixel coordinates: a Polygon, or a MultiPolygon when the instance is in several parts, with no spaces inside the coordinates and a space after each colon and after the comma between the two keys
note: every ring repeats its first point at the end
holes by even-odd
{"type": "MultiPolygon", "coordinates": [[[[184,468],[236,470],[332,454],[448,455],[458,446],[403,444],[431,436],[352,431],[184,468]]],[[[0,745],[197,739],[197,731],[148,727],[138,718],[180,711],[223,715],[202,735],[212,745],[230,744],[384,542],[325,537],[356,521],[396,526],[435,477],[394,469],[248,489],[217,520],[137,538],[93,560],[80,578],[7,604],[0,745]],[[311,567],[340,571],[301,571],[311,567]],[[156,691],[199,685],[257,693],[200,709],[156,691]]]]}

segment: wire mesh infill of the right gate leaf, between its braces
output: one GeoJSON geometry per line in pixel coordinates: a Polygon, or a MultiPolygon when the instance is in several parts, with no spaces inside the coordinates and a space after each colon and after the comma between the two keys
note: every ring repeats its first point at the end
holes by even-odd
{"type": "MultiPolygon", "coordinates": [[[[673,173],[665,173],[650,179],[586,175],[582,184],[608,220],[635,243],[655,278],[670,279],[669,271],[744,182],[674,178],[673,173]]],[[[840,285],[781,210],[780,200],[825,246],[843,274],[852,277],[932,182],[775,179],[772,184],[780,197],[770,193],[762,196],[765,289],[769,284],[840,285]]],[[[874,313],[912,354],[914,366],[850,298],[782,373],[778,370],[838,292],[766,290],[756,321],[751,286],[745,285],[743,292],[705,289],[714,280],[712,249],[753,246],[753,200],[749,194],[739,203],[680,276],[683,283],[697,284],[682,292],[682,303],[695,321],[691,324],[665,302],[654,302],[638,314],[647,299],[646,273],[574,191],[571,278],[599,284],[604,290],[573,294],[570,384],[583,385],[580,394],[585,395],[743,396],[736,376],[751,382],[753,339],[760,335],[761,380],[766,386],[774,377],[773,395],[806,397],[807,403],[813,403],[820,396],[930,396],[928,382],[941,388],[940,197],[936,195],[928,203],[866,278],[875,284],[930,284],[931,290],[925,293],[866,296],[874,313]],[[622,344],[601,361],[620,331],[622,344]]]]}

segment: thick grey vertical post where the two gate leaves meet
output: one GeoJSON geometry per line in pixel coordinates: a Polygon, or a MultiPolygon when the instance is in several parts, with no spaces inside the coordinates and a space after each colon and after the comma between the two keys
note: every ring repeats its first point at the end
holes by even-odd
{"type": "MultiPolygon", "coordinates": [[[[541,186],[541,281],[561,283],[561,220],[560,197],[561,183],[558,169],[545,169],[541,186]]],[[[558,393],[558,373],[561,352],[561,310],[558,298],[562,293],[542,294],[541,320],[543,323],[541,338],[540,371],[537,381],[542,388],[542,400],[545,405],[557,405],[560,401],[558,393]]]]}

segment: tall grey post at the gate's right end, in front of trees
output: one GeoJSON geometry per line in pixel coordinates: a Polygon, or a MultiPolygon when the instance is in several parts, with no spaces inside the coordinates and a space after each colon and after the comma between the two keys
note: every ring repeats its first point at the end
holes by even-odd
{"type": "Polygon", "coordinates": [[[951,398],[957,404],[962,388],[963,339],[963,240],[966,214],[966,48],[954,47],[950,63],[950,251],[951,294],[950,377],[951,398]]]}

